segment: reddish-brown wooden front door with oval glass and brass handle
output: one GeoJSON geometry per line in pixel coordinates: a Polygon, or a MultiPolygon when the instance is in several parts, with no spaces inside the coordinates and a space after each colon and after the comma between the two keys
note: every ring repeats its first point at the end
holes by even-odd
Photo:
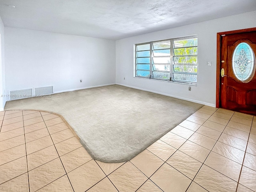
{"type": "Polygon", "coordinates": [[[256,115],[256,31],[221,36],[220,107],[256,115]]]}

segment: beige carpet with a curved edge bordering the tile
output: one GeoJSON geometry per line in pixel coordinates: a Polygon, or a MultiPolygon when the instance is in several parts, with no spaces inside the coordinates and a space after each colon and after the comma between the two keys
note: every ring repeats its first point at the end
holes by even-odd
{"type": "Polygon", "coordinates": [[[203,105],[119,85],[8,101],[5,110],[62,115],[92,158],[130,160],[203,105]]]}

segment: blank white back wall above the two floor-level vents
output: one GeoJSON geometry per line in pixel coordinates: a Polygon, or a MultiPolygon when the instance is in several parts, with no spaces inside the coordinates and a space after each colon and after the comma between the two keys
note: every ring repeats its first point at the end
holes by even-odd
{"type": "Polygon", "coordinates": [[[5,50],[6,91],[115,83],[114,40],[6,27],[5,50]]]}

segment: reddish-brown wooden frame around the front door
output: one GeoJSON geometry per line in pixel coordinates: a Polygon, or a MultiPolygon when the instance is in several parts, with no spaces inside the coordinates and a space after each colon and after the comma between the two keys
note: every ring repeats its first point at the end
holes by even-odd
{"type": "Polygon", "coordinates": [[[256,31],[256,27],[217,33],[216,108],[220,107],[220,63],[221,63],[220,62],[220,47],[221,47],[221,37],[222,37],[222,35],[235,34],[235,33],[244,33],[244,32],[251,32],[251,31],[256,31]]]}

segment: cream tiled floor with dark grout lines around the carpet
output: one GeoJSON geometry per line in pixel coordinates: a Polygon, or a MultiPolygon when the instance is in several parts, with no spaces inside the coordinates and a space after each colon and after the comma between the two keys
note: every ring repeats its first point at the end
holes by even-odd
{"type": "Polygon", "coordinates": [[[0,112],[1,192],[256,191],[256,117],[204,106],[135,158],[93,160],[62,118],[0,112]]]}

